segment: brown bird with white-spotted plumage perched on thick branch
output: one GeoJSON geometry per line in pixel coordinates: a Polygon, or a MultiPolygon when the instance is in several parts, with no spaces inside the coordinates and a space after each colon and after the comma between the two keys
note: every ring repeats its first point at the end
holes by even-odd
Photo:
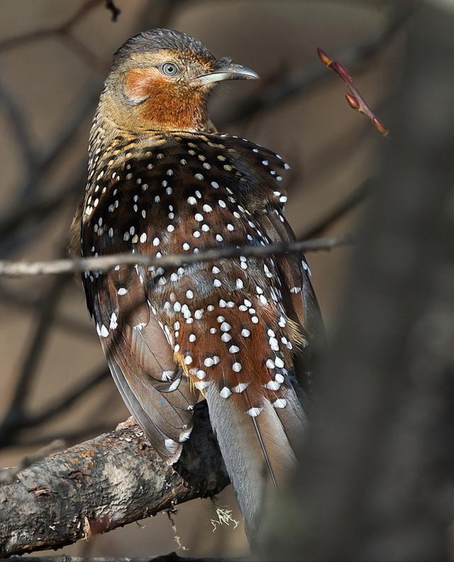
{"type": "MultiPolygon", "coordinates": [[[[72,251],[162,258],[294,241],[282,156],[220,133],[209,101],[258,79],[199,40],[153,29],[114,54],[89,137],[72,251]]],[[[323,332],[304,255],[85,271],[111,375],[160,457],[178,460],[206,400],[250,541],[297,465],[304,381],[323,332]],[[298,359],[299,358],[299,359],[298,359]]]]}

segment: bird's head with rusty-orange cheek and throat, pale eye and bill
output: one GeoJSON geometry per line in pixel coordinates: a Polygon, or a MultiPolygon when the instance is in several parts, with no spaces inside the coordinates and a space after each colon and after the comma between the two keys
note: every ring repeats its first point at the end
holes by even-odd
{"type": "Polygon", "coordinates": [[[214,86],[222,80],[256,78],[247,67],[216,59],[189,35],[153,29],[117,50],[101,103],[109,119],[126,130],[206,130],[214,86]]]}

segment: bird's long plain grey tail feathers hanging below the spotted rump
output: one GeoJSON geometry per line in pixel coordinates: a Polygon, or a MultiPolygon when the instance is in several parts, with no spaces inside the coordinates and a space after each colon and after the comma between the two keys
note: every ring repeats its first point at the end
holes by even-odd
{"type": "Polygon", "coordinates": [[[255,408],[247,413],[247,391],[231,398],[224,400],[215,385],[206,388],[211,426],[253,545],[263,536],[267,509],[295,467],[294,446],[306,416],[291,386],[285,387],[279,404],[284,407],[264,400],[260,412],[255,408]]]}

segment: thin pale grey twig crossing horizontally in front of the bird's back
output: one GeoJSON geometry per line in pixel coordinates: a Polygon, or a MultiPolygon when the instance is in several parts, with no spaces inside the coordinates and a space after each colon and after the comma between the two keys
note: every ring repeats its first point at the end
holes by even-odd
{"type": "Polygon", "coordinates": [[[11,262],[0,260],[0,276],[26,277],[31,275],[65,275],[82,271],[108,271],[116,265],[145,265],[148,267],[178,268],[191,263],[211,262],[240,256],[264,258],[267,255],[282,255],[287,253],[315,252],[331,250],[336,246],[352,243],[351,236],[338,238],[320,238],[291,243],[269,244],[267,246],[233,246],[219,250],[206,250],[198,254],[171,254],[156,258],[147,254],[111,254],[99,258],[75,258],[67,260],[49,260],[43,262],[11,262]]]}

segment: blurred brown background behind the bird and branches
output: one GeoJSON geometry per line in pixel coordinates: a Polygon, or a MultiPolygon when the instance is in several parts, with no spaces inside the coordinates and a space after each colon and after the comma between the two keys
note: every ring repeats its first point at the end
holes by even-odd
{"type": "MultiPolygon", "coordinates": [[[[400,2],[383,0],[0,0],[0,258],[66,253],[87,165],[87,138],[111,55],[146,28],[199,38],[214,55],[256,70],[260,82],[224,86],[212,119],[291,163],[287,217],[298,237],[354,230],[384,140],[344,99],[321,47],[341,60],[380,116],[402,58],[400,2]]],[[[403,4],[403,3],[402,3],[403,4]]],[[[386,123],[385,123],[386,124],[386,123]]],[[[307,255],[328,330],[343,295],[350,248],[307,255]]],[[[57,437],[68,445],[128,417],[106,373],[76,280],[0,280],[0,466],[57,437]]],[[[188,556],[247,550],[242,525],[212,532],[217,506],[240,520],[225,490],[64,551],[188,556]],[[180,551],[182,553],[182,551],[180,551]]]]}

